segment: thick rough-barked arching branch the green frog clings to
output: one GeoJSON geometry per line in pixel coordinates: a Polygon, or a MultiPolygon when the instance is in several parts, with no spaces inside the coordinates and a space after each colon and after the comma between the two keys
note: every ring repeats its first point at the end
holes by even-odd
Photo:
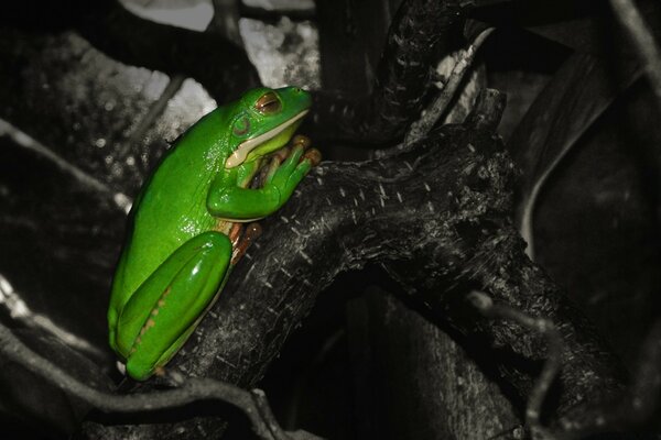
{"type": "MultiPolygon", "coordinates": [[[[499,138],[472,125],[445,127],[411,153],[388,160],[322,164],[263,222],[264,234],[169,367],[252,386],[340,271],[382,263],[435,319],[495,344],[488,362],[522,397],[545,358],[543,340],[514,324],[478,319],[463,298],[480,288],[552,319],[565,351],[550,409],[570,421],[577,407],[618,393],[620,371],[557,286],[525,257],[510,221],[514,176],[499,138]]],[[[86,435],[195,438],[220,429],[217,419],[197,418],[175,427],[88,425],[86,435]]]]}

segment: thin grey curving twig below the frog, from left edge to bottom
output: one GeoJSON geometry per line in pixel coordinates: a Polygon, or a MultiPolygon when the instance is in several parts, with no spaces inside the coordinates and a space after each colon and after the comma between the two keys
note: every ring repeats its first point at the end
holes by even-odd
{"type": "MultiPolygon", "coordinates": [[[[95,389],[72,377],[64,370],[26,348],[11,330],[0,324],[0,353],[43,377],[65,393],[74,395],[105,413],[138,413],[178,407],[203,399],[218,399],[241,409],[252,424],[254,433],[263,440],[290,440],[273,417],[266,398],[209,378],[191,378],[180,387],[144,394],[115,395],[95,389]],[[264,414],[268,415],[264,419],[264,414]]],[[[261,393],[263,396],[263,393],[261,393]]]]}

